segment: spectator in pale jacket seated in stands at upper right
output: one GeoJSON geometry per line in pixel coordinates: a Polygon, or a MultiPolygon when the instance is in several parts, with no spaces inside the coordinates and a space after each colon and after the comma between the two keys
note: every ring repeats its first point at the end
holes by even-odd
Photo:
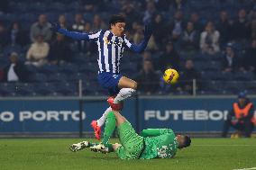
{"type": "Polygon", "coordinates": [[[200,36],[200,49],[202,53],[214,55],[220,51],[219,47],[219,31],[215,30],[213,22],[207,22],[206,30],[200,36]]]}

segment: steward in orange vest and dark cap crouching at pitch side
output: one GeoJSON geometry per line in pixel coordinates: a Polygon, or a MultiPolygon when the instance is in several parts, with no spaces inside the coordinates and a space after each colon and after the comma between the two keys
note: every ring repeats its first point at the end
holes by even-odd
{"type": "Polygon", "coordinates": [[[227,136],[230,127],[233,127],[236,132],[236,137],[244,135],[246,138],[251,137],[251,132],[256,125],[256,118],[254,115],[254,106],[250,99],[246,97],[245,93],[238,95],[238,102],[233,103],[232,110],[227,115],[227,120],[224,121],[224,130],[222,137],[227,136]]]}

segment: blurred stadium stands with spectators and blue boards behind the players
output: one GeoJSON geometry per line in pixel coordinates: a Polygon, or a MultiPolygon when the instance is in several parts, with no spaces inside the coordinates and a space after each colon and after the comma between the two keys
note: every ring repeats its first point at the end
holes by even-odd
{"type": "Polygon", "coordinates": [[[123,76],[141,85],[123,110],[136,130],[218,137],[239,92],[256,103],[254,0],[1,0],[0,137],[91,134],[90,121],[107,107],[96,46],[52,34],[50,22],[96,31],[113,13],[126,16],[135,43],[145,23],[154,26],[146,51],[122,58],[123,76]],[[167,67],[178,69],[177,85],[162,82],[167,67]]]}

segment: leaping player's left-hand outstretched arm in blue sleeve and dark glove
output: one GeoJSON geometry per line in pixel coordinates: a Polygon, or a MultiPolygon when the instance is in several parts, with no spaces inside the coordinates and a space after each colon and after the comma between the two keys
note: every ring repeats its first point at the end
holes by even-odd
{"type": "Polygon", "coordinates": [[[99,36],[99,31],[96,33],[68,31],[67,29],[61,28],[58,22],[54,22],[54,23],[51,22],[51,30],[59,32],[74,40],[92,40],[92,39],[96,39],[99,36]]]}

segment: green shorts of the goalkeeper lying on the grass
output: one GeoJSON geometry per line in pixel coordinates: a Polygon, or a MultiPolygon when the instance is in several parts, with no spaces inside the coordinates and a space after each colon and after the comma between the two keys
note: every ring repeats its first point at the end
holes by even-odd
{"type": "Polygon", "coordinates": [[[116,149],[118,157],[121,159],[139,158],[143,149],[143,138],[135,132],[129,121],[125,121],[117,130],[122,144],[116,149]]]}

